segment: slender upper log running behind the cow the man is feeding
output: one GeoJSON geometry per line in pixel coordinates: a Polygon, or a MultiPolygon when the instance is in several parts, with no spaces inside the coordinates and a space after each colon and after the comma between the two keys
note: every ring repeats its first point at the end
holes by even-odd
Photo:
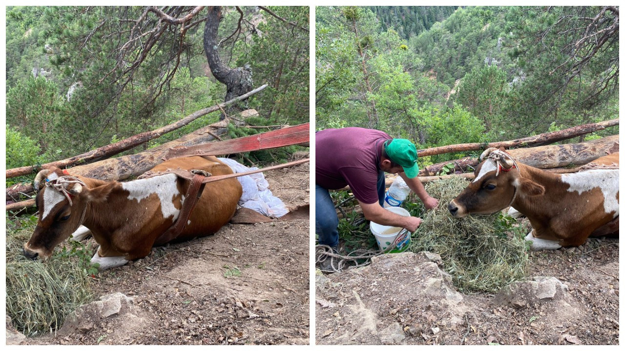
{"type": "Polygon", "coordinates": [[[509,149],[510,147],[516,147],[516,146],[523,146],[523,147],[541,146],[545,144],[552,144],[558,141],[563,141],[566,139],[571,139],[577,136],[582,136],[584,134],[589,134],[591,132],[602,131],[603,129],[606,129],[607,127],[617,126],[618,124],[619,124],[619,119],[611,119],[610,121],[583,124],[581,126],[562,129],[561,131],[548,132],[548,133],[538,134],[537,136],[524,137],[521,139],[516,139],[516,140],[511,140],[511,141],[498,141],[498,142],[491,142],[489,144],[484,144],[484,143],[480,144],[478,142],[473,142],[473,143],[468,143],[468,144],[456,144],[456,145],[431,147],[429,149],[418,150],[417,156],[423,157],[423,156],[447,154],[449,152],[486,150],[489,147],[496,147],[496,148],[505,147],[506,149],[509,149]]]}

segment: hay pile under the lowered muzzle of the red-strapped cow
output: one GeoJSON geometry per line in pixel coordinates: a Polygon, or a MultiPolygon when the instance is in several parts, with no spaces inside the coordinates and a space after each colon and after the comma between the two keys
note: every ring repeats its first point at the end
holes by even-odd
{"type": "Polygon", "coordinates": [[[53,256],[42,262],[22,255],[32,230],[26,225],[6,237],[6,313],[27,336],[60,328],[65,317],[93,295],[84,267],[75,260],[53,256]]]}

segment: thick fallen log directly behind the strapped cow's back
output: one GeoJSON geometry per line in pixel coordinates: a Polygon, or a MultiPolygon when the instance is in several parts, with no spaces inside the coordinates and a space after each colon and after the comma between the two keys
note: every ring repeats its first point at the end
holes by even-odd
{"type": "MultiPolygon", "coordinates": [[[[239,114],[239,119],[256,116],[258,112],[254,109],[243,111],[239,114]]],[[[214,141],[227,131],[228,119],[213,123],[209,126],[197,129],[186,136],[180,137],[174,141],[166,142],[161,146],[153,147],[144,152],[134,155],[126,155],[116,157],[114,159],[106,159],[103,161],[76,166],[72,168],[72,173],[83,175],[84,177],[97,178],[102,180],[124,180],[129,177],[143,174],[152,169],[157,164],[163,162],[163,157],[170,149],[178,146],[192,146],[203,142],[214,141]]],[[[237,122],[242,125],[242,122],[237,122]]],[[[6,189],[6,200],[12,201],[17,199],[20,193],[28,194],[32,192],[32,184],[16,184],[6,189]]]]}

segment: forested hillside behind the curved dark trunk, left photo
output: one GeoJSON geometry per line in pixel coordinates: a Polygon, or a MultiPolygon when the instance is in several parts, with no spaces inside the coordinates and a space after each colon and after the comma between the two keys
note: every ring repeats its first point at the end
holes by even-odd
{"type": "MultiPolygon", "coordinates": [[[[307,122],[308,7],[231,6],[218,14],[213,8],[8,7],[7,168],[81,154],[224,102],[221,71],[241,73],[247,91],[268,84],[224,112],[256,109],[259,116],[249,121],[256,126],[307,122]],[[206,29],[211,14],[218,16],[206,29]],[[207,33],[217,43],[208,46],[211,52],[207,33]],[[221,68],[213,72],[211,60],[221,68]]],[[[128,152],[176,139],[220,115],[128,152]]]]}

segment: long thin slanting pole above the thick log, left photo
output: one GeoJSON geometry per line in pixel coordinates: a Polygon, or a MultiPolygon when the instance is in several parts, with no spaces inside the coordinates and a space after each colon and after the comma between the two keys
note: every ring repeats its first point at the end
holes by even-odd
{"type": "Polygon", "coordinates": [[[262,91],[267,87],[267,84],[264,84],[261,87],[258,87],[247,94],[236,97],[230,101],[222,102],[221,104],[217,104],[216,106],[208,107],[206,109],[201,109],[199,111],[193,112],[187,117],[180,119],[179,121],[169,124],[168,126],[160,127],[159,129],[155,129],[154,131],[143,132],[136,134],[135,136],[128,137],[122,141],[115,142],[113,144],[109,144],[107,146],[99,147],[98,149],[85,152],[84,154],[80,154],[78,156],[69,157],[69,159],[64,159],[60,161],[48,162],[46,164],[42,164],[41,166],[25,166],[25,167],[17,167],[13,169],[6,170],[6,178],[18,177],[20,175],[27,175],[39,172],[41,169],[56,166],[59,168],[65,168],[68,166],[73,166],[76,164],[84,164],[94,161],[99,161],[101,159],[106,159],[108,157],[114,156],[116,154],[120,154],[121,152],[132,149],[133,147],[144,144],[152,139],[156,139],[163,134],[169,133],[171,131],[175,131],[181,127],[186,126],[187,124],[195,121],[199,117],[202,117],[211,112],[219,111],[223,109],[223,107],[234,104],[234,102],[241,101],[243,99],[247,99],[259,91],[262,91]]]}

